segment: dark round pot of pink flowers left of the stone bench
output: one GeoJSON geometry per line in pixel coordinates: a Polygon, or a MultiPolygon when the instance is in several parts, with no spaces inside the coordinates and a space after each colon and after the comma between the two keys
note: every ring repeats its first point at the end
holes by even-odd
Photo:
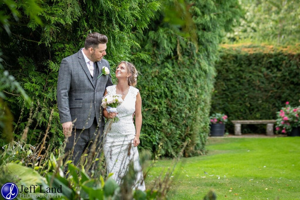
{"type": "Polygon", "coordinates": [[[228,117],[225,114],[214,113],[209,117],[210,136],[223,136],[225,132],[225,123],[228,117]]]}

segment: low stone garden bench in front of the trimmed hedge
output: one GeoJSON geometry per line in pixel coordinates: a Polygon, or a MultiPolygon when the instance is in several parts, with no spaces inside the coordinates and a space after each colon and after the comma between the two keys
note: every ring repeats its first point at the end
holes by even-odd
{"type": "Polygon", "coordinates": [[[266,134],[274,135],[274,123],[276,120],[231,120],[234,124],[234,135],[242,135],[241,124],[267,124],[266,134]]]}

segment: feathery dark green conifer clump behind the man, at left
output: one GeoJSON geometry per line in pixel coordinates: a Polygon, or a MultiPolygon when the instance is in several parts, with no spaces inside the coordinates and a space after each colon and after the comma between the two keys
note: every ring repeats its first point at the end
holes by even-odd
{"type": "MultiPolygon", "coordinates": [[[[33,144],[45,133],[54,109],[48,144],[55,148],[64,138],[56,101],[61,59],[82,48],[88,33],[100,32],[109,38],[105,58],[114,69],[115,63],[130,59],[132,46],[138,46],[132,39],[132,30],[147,28],[160,3],[155,0],[43,0],[39,1],[42,26],[27,16],[22,3],[16,2],[22,17],[11,24],[11,36],[2,32],[0,44],[4,70],[14,75],[33,99],[32,114],[31,105],[24,104],[16,91],[7,88],[5,100],[14,116],[14,136],[20,137],[22,130],[31,123],[28,138],[33,144]],[[29,116],[33,120],[28,120],[29,116]]],[[[9,8],[1,9],[10,13],[9,8]]],[[[4,140],[1,143],[4,144],[4,140]]]]}

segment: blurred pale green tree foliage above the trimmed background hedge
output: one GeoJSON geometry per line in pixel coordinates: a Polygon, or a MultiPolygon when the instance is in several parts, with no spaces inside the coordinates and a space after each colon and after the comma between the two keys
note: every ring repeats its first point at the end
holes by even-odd
{"type": "Polygon", "coordinates": [[[227,34],[229,41],[295,44],[300,42],[300,2],[297,0],[246,0],[240,26],[227,34]]]}

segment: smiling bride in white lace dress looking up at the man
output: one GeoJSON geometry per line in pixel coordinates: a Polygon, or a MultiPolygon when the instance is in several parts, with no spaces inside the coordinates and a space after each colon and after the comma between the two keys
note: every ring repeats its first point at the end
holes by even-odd
{"type": "Polygon", "coordinates": [[[135,171],[135,189],[145,191],[142,168],[140,165],[137,146],[140,144],[142,126],[142,99],[136,86],[138,72],[135,66],[126,61],[119,63],[116,68],[118,84],[108,86],[107,93],[122,95],[123,103],[117,107],[117,113],[104,108],[103,115],[107,119],[118,116],[120,121],[107,122],[104,130],[103,150],[107,165],[107,174],[113,173],[113,179],[120,185],[122,177],[133,162],[135,171]],[[107,111],[108,110],[108,111],[107,111]],[[132,116],[135,113],[135,127],[132,116]]]}

